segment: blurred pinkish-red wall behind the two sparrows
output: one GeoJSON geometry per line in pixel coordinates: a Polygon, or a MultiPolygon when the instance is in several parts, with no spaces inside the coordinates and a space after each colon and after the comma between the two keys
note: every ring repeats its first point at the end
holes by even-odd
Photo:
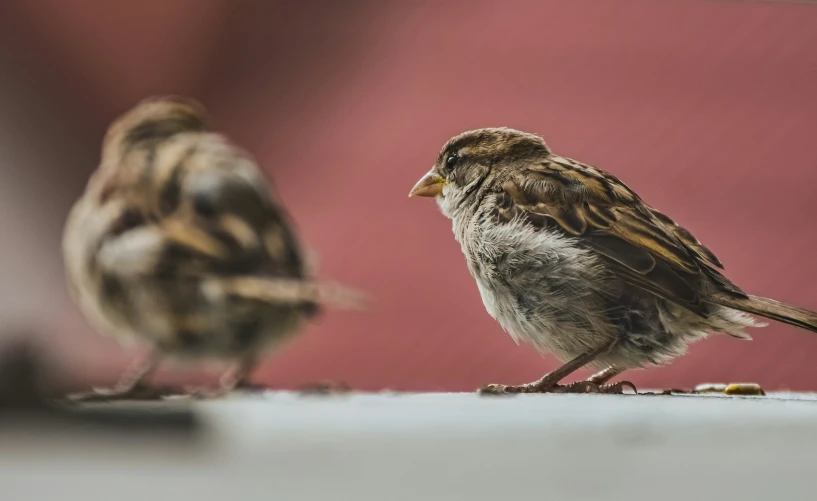
{"type": "MultiPolygon", "coordinates": [[[[192,94],[274,176],[321,275],[376,298],[367,314],[329,313],[258,379],[470,390],[555,367],[485,313],[450,222],[406,196],[450,136],[476,127],[542,134],[691,229],[747,291],[817,309],[817,6],[306,4],[0,6],[0,60],[84,152],[29,167],[73,176],[36,195],[62,201],[47,231],[59,231],[108,121],[146,95],[192,94]]],[[[66,356],[113,377],[128,355],[61,298],[47,311],[61,312],[49,328],[66,356]]],[[[716,336],[628,378],[817,390],[817,336],[778,324],[753,334],[716,336]]]]}

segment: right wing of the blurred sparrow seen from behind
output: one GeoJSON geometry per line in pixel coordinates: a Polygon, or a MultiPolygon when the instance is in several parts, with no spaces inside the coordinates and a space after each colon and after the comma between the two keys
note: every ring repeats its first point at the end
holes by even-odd
{"type": "Polygon", "coordinates": [[[176,143],[157,152],[151,192],[178,261],[213,274],[303,278],[292,225],[255,163],[215,134],[176,143]]]}

